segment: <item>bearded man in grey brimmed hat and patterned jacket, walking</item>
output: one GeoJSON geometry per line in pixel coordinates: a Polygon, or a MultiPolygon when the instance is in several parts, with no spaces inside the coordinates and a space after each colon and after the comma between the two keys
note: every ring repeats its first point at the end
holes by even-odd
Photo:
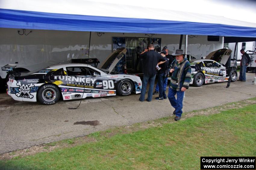
{"type": "Polygon", "coordinates": [[[184,57],[183,50],[178,49],[172,55],[175,56],[170,69],[172,73],[168,99],[172,107],[174,107],[173,114],[175,115],[176,121],[180,120],[183,108],[183,97],[186,89],[189,88],[189,82],[191,80],[191,66],[189,60],[184,57]],[[177,94],[177,99],[175,98],[177,94]]]}

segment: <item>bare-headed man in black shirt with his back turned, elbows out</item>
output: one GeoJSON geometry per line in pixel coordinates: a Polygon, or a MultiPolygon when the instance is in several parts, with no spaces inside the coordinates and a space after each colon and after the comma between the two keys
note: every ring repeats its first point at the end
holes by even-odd
{"type": "Polygon", "coordinates": [[[148,46],[148,49],[146,49],[140,54],[140,57],[143,58],[144,74],[142,79],[142,89],[141,89],[139,101],[144,101],[145,99],[145,93],[146,93],[148,82],[149,82],[149,89],[148,89],[148,98],[146,100],[149,102],[152,100],[155,77],[157,74],[156,66],[166,62],[164,57],[161,56],[159,53],[155,52],[154,49],[155,49],[155,46],[153,44],[150,44],[148,46]]]}

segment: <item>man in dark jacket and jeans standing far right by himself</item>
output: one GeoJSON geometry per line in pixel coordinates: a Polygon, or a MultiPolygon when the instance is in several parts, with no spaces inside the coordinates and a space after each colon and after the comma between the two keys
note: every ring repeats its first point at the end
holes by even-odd
{"type": "Polygon", "coordinates": [[[245,82],[246,81],[246,69],[251,61],[251,58],[245,52],[244,49],[240,50],[240,52],[242,54],[242,59],[240,62],[240,72],[239,72],[239,80],[238,81],[245,82]]]}

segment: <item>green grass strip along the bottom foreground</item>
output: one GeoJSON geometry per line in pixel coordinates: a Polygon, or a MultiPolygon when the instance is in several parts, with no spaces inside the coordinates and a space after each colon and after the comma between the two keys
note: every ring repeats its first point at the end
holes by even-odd
{"type": "MultiPolygon", "coordinates": [[[[200,169],[200,156],[255,156],[256,105],[1,160],[0,169],[200,169]]],[[[99,132],[91,137],[100,138],[99,132]]]]}

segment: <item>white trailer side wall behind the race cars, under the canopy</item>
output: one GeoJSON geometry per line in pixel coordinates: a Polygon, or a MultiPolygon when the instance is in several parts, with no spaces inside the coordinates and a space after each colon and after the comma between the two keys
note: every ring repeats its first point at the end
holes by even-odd
{"type": "MultiPolygon", "coordinates": [[[[88,52],[89,58],[97,58],[103,62],[114,50],[113,37],[125,37],[126,41],[131,38],[161,39],[161,48],[167,46],[169,54],[179,48],[180,42],[180,35],[92,32],[89,48],[88,31],[26,29],[26,35],[20,35],[18,31],[22,33],[23,30],[0,28],[0,80],[3,83],[7,78],[7,72],[14,66],[14,70],[17,71],[33,71],[56,63],[67,63],[71,59],[87,58],[88,52]]],[[[183,50],[184,42],[183,38],[183,50]]],[[[127,45],[128,42],[126,48],[127,45]]],[[[208,36],[188,36],[188,54],[196,58],[206,56],[220,48],[223,48],[223,36],[219,36],[218,41],[210,41],[208,36]]]]}

